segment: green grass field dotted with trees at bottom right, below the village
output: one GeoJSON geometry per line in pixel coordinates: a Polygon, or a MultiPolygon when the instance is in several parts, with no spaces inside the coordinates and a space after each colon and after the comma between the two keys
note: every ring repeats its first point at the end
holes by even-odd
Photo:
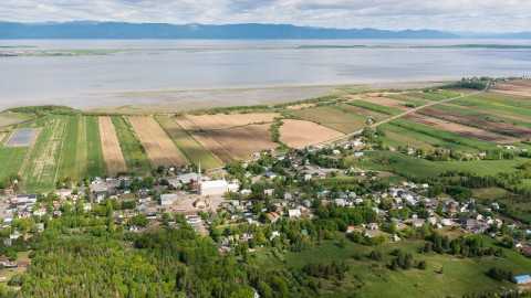
{"type": "MultiPolygon", "coordinates": [[[[489,243],[488,237],[483,238],[489,243]]],[[[309,263],[330,264],[334,260],[348,265],[350,270],[339,284],[335,278],[314,279],[322,285],[321,297],[461,297],[470,292],[514,288],[508,281],[496,281],[486,275],[493,266],[510,268],[514,274],[530,270],[530,263],[510,249],[503,249],[507,256],[504,258],[459,258],[436,253],[418,254],[416,248],[424,244],[424,241],[405,241],[367,247],[347,241],[346,246],[341,248],[334,241],[327,241],[314,249],[288,253],[283,255],[284,262],[274,257],[270,248],[264,248],[257,254],[254,262],[264,270],[278,266],[303,268],[309,263]],[[416,260],[426,260],[427,269],[392,272],[387,265],[392,259],[389,253],[394,248],[413,254],[416,260]],[[366,257],[372,249],[383,254],[382,262],[366,257]],[[358,259],[353,256],[358,256],[358,259]],[[442,266],[444,274],[439,274],[442,266]]]]}

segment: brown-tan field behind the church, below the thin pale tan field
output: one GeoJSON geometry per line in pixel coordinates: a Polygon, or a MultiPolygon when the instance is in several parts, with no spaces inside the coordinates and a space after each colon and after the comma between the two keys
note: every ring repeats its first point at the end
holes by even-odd
{"type": "Polygon", "coordinates": [[[261,150],[274,149],[279,143],[272,141],[270,125],[248,125],[229,129],[212,129],[207,134],[218,143],[238,157],[244,157],[261,150]]]}

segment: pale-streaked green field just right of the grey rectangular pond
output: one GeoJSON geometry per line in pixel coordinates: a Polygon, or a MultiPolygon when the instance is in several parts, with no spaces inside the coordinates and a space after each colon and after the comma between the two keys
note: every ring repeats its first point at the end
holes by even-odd
{"type": "Polygon", "coordinates": [[[67,118],[64,116],[46,118],[24,169],[24,190],[27,192],[44,192],[54,188],[66,120],[67,118]]]}

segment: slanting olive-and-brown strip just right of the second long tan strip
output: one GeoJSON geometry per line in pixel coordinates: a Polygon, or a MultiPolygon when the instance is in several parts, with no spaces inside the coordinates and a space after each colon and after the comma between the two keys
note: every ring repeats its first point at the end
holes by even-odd
{"type": "Polygon", "coordinates": [[[221,167],[222,163],[210,151],[205,149],[188,132],[186,132],[173,118],[168,116],[155,117],[175,145],[194,164],[201,164],[204,169],[221,167]]]}

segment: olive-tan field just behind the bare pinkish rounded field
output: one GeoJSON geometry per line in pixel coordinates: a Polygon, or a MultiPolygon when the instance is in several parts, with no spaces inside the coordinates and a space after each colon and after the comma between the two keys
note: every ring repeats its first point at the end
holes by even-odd
{"type": "Polygon", "coordinates": [[[363,117],[333,109],[331,107],[306,108],[291,111],[291,114],[304,120],[316,123],[344,134],[361,130],[366,126],[363,117]]]}

